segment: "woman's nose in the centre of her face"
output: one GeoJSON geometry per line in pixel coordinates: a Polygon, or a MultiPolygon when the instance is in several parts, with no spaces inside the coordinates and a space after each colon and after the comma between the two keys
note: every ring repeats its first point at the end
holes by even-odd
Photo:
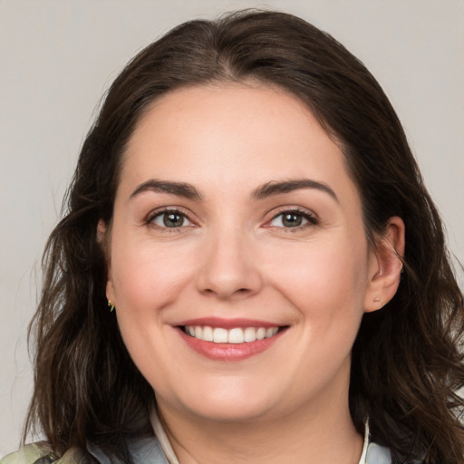
{"type": "Polygon", "coordinates": [[[241,299],[259,292],[263,279],[253,242],[237,228],[208,237],[198,269],[198,291],[220,300],[241,299]]]}

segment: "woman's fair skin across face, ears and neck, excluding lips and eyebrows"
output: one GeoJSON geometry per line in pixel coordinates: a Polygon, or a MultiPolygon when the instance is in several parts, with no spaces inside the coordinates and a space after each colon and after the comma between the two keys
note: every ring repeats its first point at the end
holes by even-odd
{"type": "Polygon", "coordinates": [[[391,218],[369,246],[343,153],[303,103],[256,83],[163,96],[131,137],[105,234],[107,296],[182,464],[358,462],[351,350],[362,314],[396,291],[404,227],[391,218]],[[189,183],[201,199],[140,190],[150,179],[189,183]],[[289,179],[333,194],[256,198],[289,179]],[[166,227],[163,208],[183,224],[166,227]],[[176,328],[200,317],[286,330],[263,353],[214,360],[176,328]]]}

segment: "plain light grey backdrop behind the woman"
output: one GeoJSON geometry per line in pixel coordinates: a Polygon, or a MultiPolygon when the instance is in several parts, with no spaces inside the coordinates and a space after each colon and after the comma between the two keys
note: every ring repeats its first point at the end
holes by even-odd
{"type": "Polygon", "coordinates": [[[247,6],[300,15],[367,65],[464,262],[464,0],[0,0],[0,455],[18,445],[40,256],[97,102],[172,26],[247,6]]]}

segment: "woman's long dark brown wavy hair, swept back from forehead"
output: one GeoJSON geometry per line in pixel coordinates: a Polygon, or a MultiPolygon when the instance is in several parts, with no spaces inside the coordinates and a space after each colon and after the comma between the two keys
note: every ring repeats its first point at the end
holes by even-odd
{"type": "Polygon", "coordinates": [[[294,94],[337,141],[361,193],[368,238],[392,216],[406,225],[398,292],[364,315],[353,346],[356,428],[362,433],[369,418],[373,440],[395,463],[464,463],[456,394],[464,383],[463,299],[401,123],[371,73],[332,36],[293,15],[256,10],[179,25],[111,85],[43,256],[25,430],[38,425],[56,456],[85,451],[91,440],[122,462],[131,462],[128,437],[150,433],[153,391],[107,310],[97,224],[111,225],[121,159],[151,102],[185,86],[249,80],[294,94]]]}

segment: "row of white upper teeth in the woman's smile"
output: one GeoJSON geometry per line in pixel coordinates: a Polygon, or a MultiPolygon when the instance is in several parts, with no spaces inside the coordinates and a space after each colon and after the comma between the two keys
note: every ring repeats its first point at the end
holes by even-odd
{"type": "Polygon", "coordinates": [[[249,343],[255,342],[256,340],[263,340],[264,338],[270,338],[275,335],[279,330],[278,327],[246,327],[244,329],[235,327],[227,330],[222,327],[216,327],[213,329],[206,325],[187,325],[185,327],[185,333],[190,336],[203,340],[205,342],[214,343],[249,343]]]}

